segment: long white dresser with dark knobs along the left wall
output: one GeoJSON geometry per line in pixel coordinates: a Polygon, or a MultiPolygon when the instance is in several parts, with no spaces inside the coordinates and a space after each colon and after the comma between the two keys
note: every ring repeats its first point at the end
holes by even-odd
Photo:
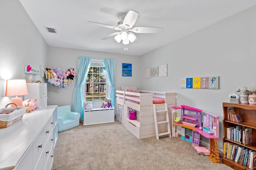
{"type": "Polygon", "coordinates": [[[54,158],[57,106],[35,110],[0,128],[0,170],[50,170],[54,158]]]}

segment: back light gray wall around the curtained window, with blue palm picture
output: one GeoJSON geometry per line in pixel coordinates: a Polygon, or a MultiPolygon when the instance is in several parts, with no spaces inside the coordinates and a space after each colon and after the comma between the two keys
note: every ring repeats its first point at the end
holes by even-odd
{"type": "MultiPolygon", "coordinates": [[[[115,53],[103,53],[79,49],[68,49],[60,47],[49,47],[49,62],[46,67],[60,67],[67,70],[70,67],[78,71],[77,61],[79,56],[91,57],[92,59],[111,58],[116,60],[115,88],[121,89],[121,85],[140,86],[140,58],[133,55],[121,55],[115,53]],[[132,77],[122,77],[122,63],[132,64],[132,77]]],[[[71,105],[75,84],[65,88],[54,87],[48,83],[48,105],[71,105]]]]}

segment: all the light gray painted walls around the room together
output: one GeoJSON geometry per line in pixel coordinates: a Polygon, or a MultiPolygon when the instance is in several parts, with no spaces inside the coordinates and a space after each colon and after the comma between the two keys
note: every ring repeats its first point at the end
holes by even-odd
{"type": "MultiPolygon", "coordinates": [[[[36,70],[59,66],[74,67],[78,56],[116,59],[116,89],[121,85],[143,90],[177,92],[177,105],[188,105],[220,115],[222,102],[238,86],[255,85],[256,7],[235,14],[148,54],[119,55],[78,49],[48,47],[18,0],[0,1],[0,107],[12,97],[4,97],[8,79],[24,79],[24,66],[36,70]],[[122,63],[131,63],[132,77],[122,77],[122,63]],[[168,64],[167,77],[144,78],[144,68],[168,64]],[[182,89],[180,79],[220,76],[219,90],[182,89]]],[[[36,76],[36,80],[44,77],[36,76]]],[[[71,104],[75,84],[56,88],[48,84],[48,104],[71,104]]],[[[221,124],[222,127],[222,124],[221,124]]],[[[222,128],[220,128],[222,136],[222,128]]],[[[203,139],[203,141],[207,141],[203,139]]],[[[222,147],[221,139],[218,140],[222,147]]]]}

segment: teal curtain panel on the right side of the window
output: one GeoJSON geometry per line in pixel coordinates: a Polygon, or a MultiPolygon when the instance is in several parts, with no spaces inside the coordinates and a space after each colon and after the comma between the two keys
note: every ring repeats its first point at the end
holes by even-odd
{"type": "MultiPolygon", "coordinates": [[[[111,85],[110,99],[113,106],[116,106],[116,95],[115,95],[115,59],[102,59],[103,64],[106,68],[109,83],[111,85]]],[[[114,107],[116,109],[116,107],[114,107]]],[[[116,113],[116,111],[115,111],[116,113]]]]}

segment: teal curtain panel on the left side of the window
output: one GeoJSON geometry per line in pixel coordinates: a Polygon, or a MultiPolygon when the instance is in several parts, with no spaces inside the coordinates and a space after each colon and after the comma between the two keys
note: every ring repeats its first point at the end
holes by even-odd
{"type": "Polygon", "coordinates": [[[80,113],[80,120],[84,119],[84,101],[82,98],[82,85],[86,81],[89,68],[91,66],[90,57],[80,57],[78,59],[78,78],[72,99],[72,111],[80,113]]]}

